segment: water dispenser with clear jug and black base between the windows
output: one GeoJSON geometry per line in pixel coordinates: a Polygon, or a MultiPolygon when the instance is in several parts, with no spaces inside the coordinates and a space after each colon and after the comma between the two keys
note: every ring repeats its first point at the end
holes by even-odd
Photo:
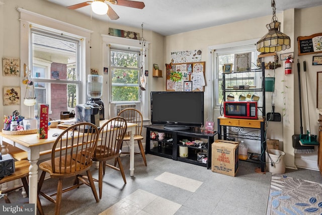
{"type": "Polygon", "coordinates": [[[87,96],[90,97],[86,104],[99,105],[100,120],[104,120],[104,103],[100,98],[103,92],[103,76],[88,75],[87,78],[87,96]]]}

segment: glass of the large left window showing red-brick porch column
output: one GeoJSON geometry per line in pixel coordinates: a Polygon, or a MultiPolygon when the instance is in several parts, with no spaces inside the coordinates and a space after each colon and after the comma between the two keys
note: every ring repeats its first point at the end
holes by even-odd
{"type": "Polygon", "coordinates": [[[81,85],[79,46],[81,42],[68,34],[31,29],[32,78],[37,104],[49,104],[49,118],[59,119],[61,111],[74,110],[81,85]]]}

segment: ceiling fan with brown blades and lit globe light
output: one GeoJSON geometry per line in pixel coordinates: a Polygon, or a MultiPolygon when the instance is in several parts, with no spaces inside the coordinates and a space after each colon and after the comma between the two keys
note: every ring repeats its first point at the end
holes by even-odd
{"type": "Polygon", "coordinates": [[[68,6],[67,8],[70,10],[75,10],[91,5],[94,13],[99,15],[107,14],[111,20],[117,20],[120,17],[115,13],[115,11],[108,3],[112,5],[119,5],[137,9],[143,9],[145,7],[143,2],[136,2],[130,0],[93,0],[68,6]]]}

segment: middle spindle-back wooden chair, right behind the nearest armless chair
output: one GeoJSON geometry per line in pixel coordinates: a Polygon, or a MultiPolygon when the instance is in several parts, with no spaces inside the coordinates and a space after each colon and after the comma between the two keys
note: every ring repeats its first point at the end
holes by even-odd
{"type": "Polygon", "coordinates": [[[121,172],[124,183],[126,184],[124,169],[120,159],[122,141],[126,134],[127,123],[122,117],[114,117],[105,122],[100,128],[99,140],[101,145],[98,144],[93,161],[99,162],[99,193],[100,198],[102,198],[102,188],[103,188],[103,175],[105,174],[105,167],[110,167],[112,169],[121,172]],[[107,130],[110,130],[107,132],[107,130]],[[107,164],[106,161],[114,159],[118,163],[119,168],[116,165],[107,164]]]}

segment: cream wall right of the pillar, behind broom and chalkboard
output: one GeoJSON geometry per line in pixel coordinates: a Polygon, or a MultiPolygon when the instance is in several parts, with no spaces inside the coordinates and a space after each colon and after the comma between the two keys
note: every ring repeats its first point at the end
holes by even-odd
{"type": "MultiPolygon", "coordinates": [[[[309,36],[315,33],[322,32],[322,25],[320,20],[322,19],[322,7],[307,8],[302,10],[295,10],[295,38],[298,36],[309,36]]],[[[298,47],[295,47],[296,55],[298,53],[298,47]]],[[[300,55],[297,58],[300,62],[300,80],[301,80],[301,91],[302,91],[302,115],[303,115],[303,132],[307,129],[307,108],[306,108],[306,95],[304,91],[305,74],[303,71],[303,61],[306,61],[307,71],[307,92],[308,92],[308,104],[309,104],[309,119],[310,119],[310,130],[311,134],[318,135],[318,113],[316,111],[316,72],[322,71],[322,65],[312,65],[312,57],[317,54],[306,54],[300,55]]],[[[297,61],[294,62],[294,73],[297,74],[297,61]]],[[[297,76],[294,79],[294,106],[295,106],[295,133],[300,133],[300,120],[299,120],[299,94],[298,94],[298,79],[297,76]]],[[[321,94],[322,92],[319,92],[321,94]]],[[[295,154],[295,165],[298,167],[305,167],[308,169],[317,168],[317,147],[315,147],[314,154],[295,154]]]]}

